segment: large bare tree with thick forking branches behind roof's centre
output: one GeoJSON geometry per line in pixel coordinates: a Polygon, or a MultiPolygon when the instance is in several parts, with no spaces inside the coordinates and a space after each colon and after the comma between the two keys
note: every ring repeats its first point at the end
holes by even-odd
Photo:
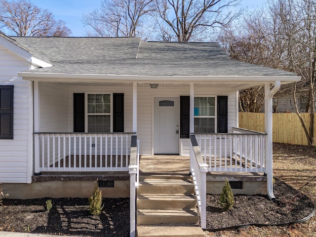
{"type": "Polygon", "coordinates": [[[239,0],[155,0],[163,40],[202,39],[207,30],[226,27],[237,16],[230,7],[239,0]],[[226,12],[225,12],[226,11],[226,12]]]}

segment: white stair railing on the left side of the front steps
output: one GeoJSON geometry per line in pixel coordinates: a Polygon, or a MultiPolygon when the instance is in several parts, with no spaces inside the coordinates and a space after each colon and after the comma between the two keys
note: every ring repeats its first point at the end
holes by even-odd
{"type": "Polygon", "coordinates": [[[130,210],[130,237],[136,235],[136,189],[139,185],[139,140],[133,135],[131,138],[130,161],[128,165],[130,174],[129,210],[130,210]]]}

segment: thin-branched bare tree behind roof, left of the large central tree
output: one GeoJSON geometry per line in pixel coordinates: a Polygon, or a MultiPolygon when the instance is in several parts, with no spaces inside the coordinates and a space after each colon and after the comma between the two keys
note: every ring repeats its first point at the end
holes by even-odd
{"type": "Polygon", "coordinates": [[[92,30],[88,36],[149,37],[149,13],[153,0],[103,0],[100,9],[83,16],[83,24],[92,30]]]}

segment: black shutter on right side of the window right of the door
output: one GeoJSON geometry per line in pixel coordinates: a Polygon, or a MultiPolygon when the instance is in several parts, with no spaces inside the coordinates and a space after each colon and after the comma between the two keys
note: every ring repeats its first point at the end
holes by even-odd
{"type": "Polygon", "coordinates": [[[217,96],[217,132],[227,133],[228,97],[217,96]]]}

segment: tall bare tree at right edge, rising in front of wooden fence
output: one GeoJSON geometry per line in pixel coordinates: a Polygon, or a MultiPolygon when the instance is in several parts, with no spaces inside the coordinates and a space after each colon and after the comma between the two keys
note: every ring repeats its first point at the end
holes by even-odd
{"type": "Polygon", "coordinates": [[[287,38],[290,68],[302,77],[293,92],[296,114],[300,118],[309,145],[314,145],[314,111],[316,79],[316,0],[276,0],[271,9],[283,26],[287,38]],[[296,91],[308,88],[306,112],[310,113],[309,127],[298,110],[296,91]]]}

